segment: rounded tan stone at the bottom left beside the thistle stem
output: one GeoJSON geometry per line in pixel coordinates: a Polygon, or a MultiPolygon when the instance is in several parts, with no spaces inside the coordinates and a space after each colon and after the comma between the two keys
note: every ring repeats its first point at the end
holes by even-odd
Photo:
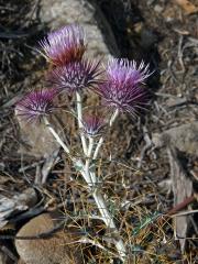
{"type": "MultiPolygon", "coordinates": [[[[58,224],[58,216],[42,213],[24,224],[16,237],[35,237],[51,232],[58,224]]],[[[74,232],[75,233],[75,232],[74,232]]],[[[25,264],[81,264],[80,248],[75,241],[73,232],[58,230],[45,239],[15,240],[16,251],[20,255],[19,263],[25,264]]]]}

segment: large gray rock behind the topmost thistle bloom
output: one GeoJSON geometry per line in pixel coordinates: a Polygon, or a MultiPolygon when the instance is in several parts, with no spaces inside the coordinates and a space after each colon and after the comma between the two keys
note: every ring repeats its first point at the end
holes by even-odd
{"type": "Polygon", "coordinates": [[[46,23],[52,31],[69,23],[79,23],[85,29],[88,41],[88,52],[92,57],[105,57],[106,61],[110,54],[110,50],[116,56],[120,54],[111,28],[99,10],[99,7],[96,8],[87,1],[42,0],[41,20],[46,23]],[[100,18],[100,26],[96,21],[96,14],[100,18]],[[108,48],[105,42],[100,31],[101,28],[103,32],[106,32],[110,48],[108,48]]]}

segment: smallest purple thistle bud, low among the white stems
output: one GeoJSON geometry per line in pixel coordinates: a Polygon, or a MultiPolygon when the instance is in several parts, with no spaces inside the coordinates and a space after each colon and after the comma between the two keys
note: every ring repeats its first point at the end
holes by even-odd
{"type": "Polygon", "coordinates": [[[105,120],[97,116],[86,116],[82,120],[84,133],[89,136],[98,136],[105,128],[105,120]]]}

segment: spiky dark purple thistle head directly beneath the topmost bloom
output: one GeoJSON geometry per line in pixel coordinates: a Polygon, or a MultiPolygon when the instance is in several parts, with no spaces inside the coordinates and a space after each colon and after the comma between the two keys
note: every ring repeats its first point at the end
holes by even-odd
{"type": "Polygon", "coordinates": [[[74,92],[91,88],[101,84],[101,79],[98,78],[102,74],[99,66],[100,62],[92,63],[87,59],[73,62],[54,68],[47,80],[61,91],[74,92]]]}

